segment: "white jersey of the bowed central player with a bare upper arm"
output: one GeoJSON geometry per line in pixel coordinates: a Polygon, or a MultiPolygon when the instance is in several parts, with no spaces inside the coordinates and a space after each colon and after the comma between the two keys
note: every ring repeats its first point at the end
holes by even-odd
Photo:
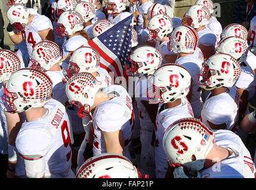
{"type": "Polygon", "coordinates": [[[103,133],[121,130],[124,134],[124,156],[131,159],[128,147],[132,139],[134,113],[131,97],[121,85],[109,85],[104,88],[107,93],[115,94],[113,99],[100,103],[93,113],[92,132],[94,134],[93,154],[106,153],[103,133]]]}

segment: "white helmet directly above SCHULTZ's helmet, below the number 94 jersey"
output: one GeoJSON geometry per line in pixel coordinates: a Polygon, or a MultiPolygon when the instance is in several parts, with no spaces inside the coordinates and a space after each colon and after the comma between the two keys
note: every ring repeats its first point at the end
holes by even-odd
{"type": "Polygon", "coordinates": [[[48,71],[61,60],[62,56],[58,45],[51,41],[41,41],[33,47],[30,60],[32,67],[42,68],[48,71]]]}

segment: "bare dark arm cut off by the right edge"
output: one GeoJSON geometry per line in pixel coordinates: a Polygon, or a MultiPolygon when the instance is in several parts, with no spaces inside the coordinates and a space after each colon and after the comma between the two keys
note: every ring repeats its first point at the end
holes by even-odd
{"type": "Polygon", "coordinates": [[[239,127],[245,132],[256,132],[255,110],[243,117],[239,127]]]}

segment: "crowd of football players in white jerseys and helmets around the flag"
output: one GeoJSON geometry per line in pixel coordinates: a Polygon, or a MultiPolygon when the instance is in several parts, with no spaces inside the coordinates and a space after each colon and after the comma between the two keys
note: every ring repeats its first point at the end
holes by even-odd
{"type": "Polygon", "coordinates": [[[51,0],[50,18],[26,3],[9,1],[17,51],[0,50],[8,178],[256,178],[256,17],[248,31],[223,29],[211,0],[183,18],[160,1],[51,0]],[[132,94],[88,44],[131,15],[132,94]]]}

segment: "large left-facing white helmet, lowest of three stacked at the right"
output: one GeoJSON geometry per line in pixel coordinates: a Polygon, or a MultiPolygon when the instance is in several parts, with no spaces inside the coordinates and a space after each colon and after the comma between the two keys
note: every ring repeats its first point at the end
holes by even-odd
{"type": "Polygon", "coordinates": [[[239,62],[231,55],[220,53],[203,62],[198,73],[198,84],[205,90],[233,87],[241,74],[239,62]]]}

